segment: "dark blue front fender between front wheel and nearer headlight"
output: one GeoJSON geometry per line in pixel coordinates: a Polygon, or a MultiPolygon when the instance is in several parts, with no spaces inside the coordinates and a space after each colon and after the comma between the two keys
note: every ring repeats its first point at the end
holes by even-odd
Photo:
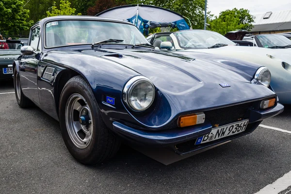
{"type": "MultiPolygon", "coordinates": [[[[122,102],[122,90],[129,79],[140,75],[137,72],[111,60],[84,55],[78,51],[51,51],[44,54],[41,63],[80,74],[90,84],[107,127],[113,128],[113,120],[136,123],[122,102]],[[106,102],[107,96],[114,98],[114,105],[106,102]]],[[[56,75],[55,86],[60,82],[61,75],[62,71],[56,75]]]]}

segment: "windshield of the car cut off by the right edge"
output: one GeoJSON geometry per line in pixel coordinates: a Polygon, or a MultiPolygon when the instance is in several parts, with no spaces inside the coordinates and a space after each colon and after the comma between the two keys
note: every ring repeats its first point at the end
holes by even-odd
{"type": "Polygon", "coordinates": [[[287,45],[291,45],[291,40],[282,35],[275,34],[261,34],[256,36],[262,47],[270,48],[270,47],[284,47],[287,45]]]}

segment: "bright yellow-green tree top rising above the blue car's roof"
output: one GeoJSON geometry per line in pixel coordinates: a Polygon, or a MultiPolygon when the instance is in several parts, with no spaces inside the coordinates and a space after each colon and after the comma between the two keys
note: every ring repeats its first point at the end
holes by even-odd
{"type": "MultiPolygon", "coordinates": [[[[68,0],[61,0],[60,9],[58,9],[56,2],[54,1],[50,10],[47,11],[47,16],[75,15],[76,9],[71,8],[70,5],[71,3],[68,0]]],[[[77,15],[81,15],[81,13],[78,13],[77,15]]]]}

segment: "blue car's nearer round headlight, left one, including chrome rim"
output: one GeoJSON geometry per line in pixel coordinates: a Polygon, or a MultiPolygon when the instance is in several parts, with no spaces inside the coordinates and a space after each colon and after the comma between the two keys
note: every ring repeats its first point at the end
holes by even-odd
{"type": "Polygon", "coordinates": [[[155,99],[155,87],[144,76],[136,76],[128,81],[123,91],[123,100],[133,111],[144,111],[155,99]]]}

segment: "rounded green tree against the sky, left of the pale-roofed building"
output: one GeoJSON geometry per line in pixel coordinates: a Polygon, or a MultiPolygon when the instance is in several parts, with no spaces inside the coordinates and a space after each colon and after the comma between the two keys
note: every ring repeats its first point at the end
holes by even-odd
{"type": "Polygon", "coordinates": [[[220,12],[218,17],[215,16],[213,20],[209,21],[210,30],[223,35],[234,30],[250,31],[253,28],[254,18],[247,9],[234,8],[226,10],[220,12]]]}

